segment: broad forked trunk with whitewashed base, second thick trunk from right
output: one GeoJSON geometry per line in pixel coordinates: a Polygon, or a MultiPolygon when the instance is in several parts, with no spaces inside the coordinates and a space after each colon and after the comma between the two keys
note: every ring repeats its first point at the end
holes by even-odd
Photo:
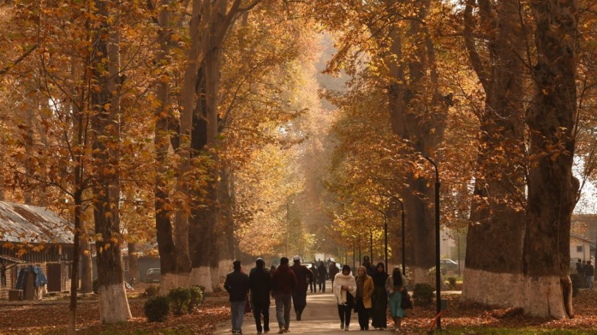
{"type": "MultiPolygon", "coordinates": [[[[473,49],[471,12],[467,3],[467,47],[486,92],[482,114],[471,225],[467,234],[465,284],[462,301],[489,306],[522,306],[513,290],[504,292],[499,283],[517,289],[522,280],[524,236],[524,64],[517,53],[524,49],[519,21],[519,2],[500,0],[497,32],[489,40],[491,66],[480,64],[473,49]],[[469,34],[470,32],[470,34],[469,34]],[[487,69],[489,67],[489,69],[487,69]]],[[[493,10],[481,10],[482,22],[491,23],[493,10]]],[[[494,30],[492,30],[494,31],[494,30]]]]}

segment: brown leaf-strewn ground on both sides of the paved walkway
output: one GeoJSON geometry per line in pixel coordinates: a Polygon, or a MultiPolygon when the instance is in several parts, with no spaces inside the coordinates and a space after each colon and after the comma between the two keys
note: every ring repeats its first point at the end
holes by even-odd
{"type": "MultiPolygon", "coordinates": [[[[312,297],[309,294],[309,297],[312,297]]],[[[574,299],[575,316],[573,319],[539,319],[527,317],[512,309],[487,309],[483,306],[463,306],[458,303],[458,295],[448,295],[448,309],[443,317],[443,327],[537,327],[546,329],[597,329],[597,290],[581,290],[574,299]]],[[[313,298],[316,299],[316,295],[313,298]]],[[[203,306],[191,315],[169,317],[165,323],[148,323],[143,316],[145,299],[130,299],[133,319],[119,326],[115,334],[129,334],[134,330],[145,330],[148,334],[159,334],[164,330],[191,330],[193,334],[212,334],[218,325],[229,322],[228,299],[224,293],[207,297],[203,306]],[[120,329],[121,328],[121,329],[120,329]]],[[[9,301],[0,303],[0,334],[65,334],[68,321],[68,301],[43,301],[41,303],[10,305],[9,301]]],[[[273,306],[273,303],[272,303],[273,306]]],[[[329,308],[330,317],[336,314],[335,308],[329,308]]],[[[294,312],[292,313],[294,314],[294,312]]],[[[100,313],[97,301],[81,300],[78,308],[78,328],[84,334],[97,334],[103,328],[99,321],[100,313]]],[[[422,308],[415,306],[408,310],[408,317],[403,321],[401,334],[422,334],[428,329],[434,317],[434,306],[422,308]]],[[[356,322],[356,315],[354,315],[356,322]]],[[[272,315],[272,323],[275,317],[272,315]]],[[[248,317],[246,324],[253,322],[248,317]]],[[[355,323],[356,325],[356,323],[355,323]]],[[[113,329],[113,328],[111,328],[113,329]]],[[[273,328],[272,328],[273,329],[273,328]]],[[[110,333],[112,334],[112,333],[110,333]]],[[[169,334],[176,334],[172,332],[169,334]]],[[[249,332],[247,334],[253,334],[249,332]]]]}

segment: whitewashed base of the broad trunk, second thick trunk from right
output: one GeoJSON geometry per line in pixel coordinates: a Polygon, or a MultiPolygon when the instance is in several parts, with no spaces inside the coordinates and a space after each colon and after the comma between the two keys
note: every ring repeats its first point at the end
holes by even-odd
{"type": "Polygon", "coordinates": [[[522,307],[522,297],[517,290],[523,283],[522,273],[493,273],[465,267],[460,301],[495,307],[522,307]]]}

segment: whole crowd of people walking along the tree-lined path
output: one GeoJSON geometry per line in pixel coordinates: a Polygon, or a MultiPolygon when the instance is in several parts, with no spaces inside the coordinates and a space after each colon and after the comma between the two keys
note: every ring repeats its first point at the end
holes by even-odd
{"type": "Polygon", "coordinates": [[[257,258],[255,268],[248,275],[242,270],[239,260],[233,262],[233,272],[226,276],[224,282],[224,288],[230,296],[233,334],[242,334],[247,302],[253,310],[257,334],[270,331],[270,295],[276,304],[278,334],[289,332],[291,303],[294,305],[296,321],[301,321],[307,306],[307,289],[310,286],[312,292],[316,292],[312,284],[318,282],[319,291],[325,292],[327,278],[332,282],[332,293],[336,297],[340,329],[349,330],[353,310],[358,313],[360,330],[368,330],[370,320],[371,326],[376,329],[388,327],[388,302],[395,327],[400,327],[401,318],[405,316],[402,297],[408,293],[406,278],[398,268],[388,275],[384,263],[379,262],[373,268],[368,256],[365,256],[354,276],[349,265],[342,266],[340,271],[334,262],[330,262],[328,271],[323,262],[317,267],[312,264],[312,269],[309,269],[301,264],[299,256],[294,256],[293,261],[294,264],[290,266],[288,258],[283,257],[277,268],[272,266],[268,271],[264,260],[257,258]]]}

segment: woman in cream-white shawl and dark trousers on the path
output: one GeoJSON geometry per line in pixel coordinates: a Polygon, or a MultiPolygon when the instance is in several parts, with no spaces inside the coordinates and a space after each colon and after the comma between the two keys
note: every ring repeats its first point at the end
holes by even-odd
{"type": "Polygon", "coordinates": [[[351,267],[342,266],[342,272],[336,274],[331,286],[331,291],[338,303],[338,316],[340,317],[340,329],[349,330],[351,323],[351,312],[354,308],[354,297],[357,291],[355,277],[351,273],[351,267]]]}

